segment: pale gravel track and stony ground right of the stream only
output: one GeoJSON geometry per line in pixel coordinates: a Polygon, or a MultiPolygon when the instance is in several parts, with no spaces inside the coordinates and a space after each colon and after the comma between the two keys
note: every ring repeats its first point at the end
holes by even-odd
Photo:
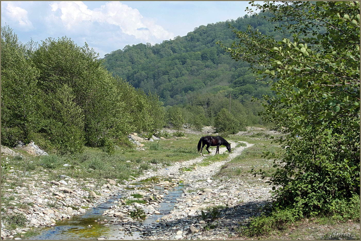
{"type": "MultiPolygon", "coordinates": [[[[161,169],[153,173],[153,176],[168,176],[173,178],[172,180],[181,179],[187,186],[183,189],[181,197],[177,198],[177,203],[170,214],[161,217],[157,220],[158,223],[133,225],[127,233],[141,230],[140,238],[148,240],[218,240],[235,237],[240,224],[246,223],[249,217],[256,215],[260,207],[267,203],[271,190],[264,184],[266,180],[258,179],[256,183],[251,183],[238,178],[221,180],[212,177],[223,164],[240,155],[245,148],[253,146],[247,142],[243,143],[247,146],[234,148],[237,143],[231,142],[232,153],[224,161],[179,173],[178,169],[182,166],[190,166],[206,158],[197,157],[176,163],[168,170],[161,169]],[[202,218],[202,210],[206,214],[207,209],[215,206],[218,212],[216,219],[211,221],[202,218]]],[[[225,147],[219,149],[220,153],[225,151],[227,151],[225,147]]],[[[149,176],[148,174],[142,178],[149,176]]]]}

